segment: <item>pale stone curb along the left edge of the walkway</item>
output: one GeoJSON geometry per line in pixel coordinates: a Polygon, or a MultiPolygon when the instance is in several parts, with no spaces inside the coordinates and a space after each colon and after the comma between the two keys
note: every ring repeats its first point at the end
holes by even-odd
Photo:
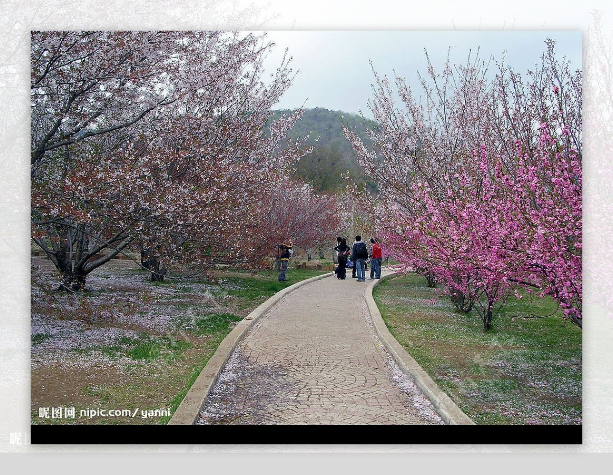
{"type": "Polygon", "coordinates": [[[237,344],[246,333],[256,324],[256,322],[265,313],[272,308],[275,303],[279,302],[283,297],[289,294],[295,289],[302,287],[303,285],[317,281],[322,278],[332,276],[331,272],[326,274],[317,275],[304,279],[300,282],[292,284],[289,287],[277,292],[272,297],[268,298],[265,302],[262,302],[255,310],[251,311],[245,318],[243,318],[238,324],[227,334],[226,338],[219,344],[213,356],[210,357],[205,367],[200,371],[200,374],[194,381],[194,384],[189,388],[187,394],[181,401],[181,404],[177,408],[177,411],[170,418],[168,425],[194,425],[196,424],[202,406],[207,401],[208,395],[213,390],[215,383],[219,378],[219,374],[226,366],[227,361],[230,359],[230,355],[236,348],[237,344]]]}

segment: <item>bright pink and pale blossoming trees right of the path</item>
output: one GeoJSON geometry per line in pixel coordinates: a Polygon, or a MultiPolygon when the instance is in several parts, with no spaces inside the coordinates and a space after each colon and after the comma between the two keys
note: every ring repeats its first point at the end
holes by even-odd
{"type": "Polygon", "coordinates": [[[397,108],[376,77],[371,138],[346,135],[381,194],[373,219],[405,269],[449,287],[484,329],[516,286],[552,295],[581,326],[581,73],[555,59],[527,82],[471,60],[437,74],[428,59],[420,102],[402,78],[397,108]]]}

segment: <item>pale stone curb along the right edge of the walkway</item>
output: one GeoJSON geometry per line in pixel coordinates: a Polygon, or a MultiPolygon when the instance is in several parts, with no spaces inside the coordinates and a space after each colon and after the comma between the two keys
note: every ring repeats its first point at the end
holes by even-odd
{"type": "Polygon", "coordinates": [[[381,282],[394,276],[400,275],[400,272],[393,271],[389,274],[382,275],[380,279],[376,279],[366,288],[366,303],[370,316],[375,327],[375,332],[379,336],[379,340],[387,348],[390,355],[404,373],[409,374],[415,384],[424,393],[425,397],[430,400],[436,413],[441,416],[443,422],[447,425],[475,425],[473,420],[460,409],[454,401],[451,400],[443,390],[438,387],[438,384],[430,378],[428,373],[408,354],[406,349],[398,343],[394,335],[389,332],[387,325],[381,317],[381,312],[373,298],[373,289],[381,282]]]}

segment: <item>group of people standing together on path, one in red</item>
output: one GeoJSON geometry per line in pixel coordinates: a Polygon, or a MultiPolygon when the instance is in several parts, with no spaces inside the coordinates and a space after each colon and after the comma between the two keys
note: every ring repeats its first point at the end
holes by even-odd
{"type": "Polygon", "coordinates": [[[370,278],[381,278],[381,245],[375,238],[370,238],[370,249],[362,241],[362,236],[356,236],[351,248],[347,245],[346,238],[337,237],[337,243],[334,250],[337,252],[338,267],[333,271],[337,279],[345,280],[349,259],[353,263],[352,278],[357,277],[358,282],[366,280],[367,260],[370,260],[370,278]]]}

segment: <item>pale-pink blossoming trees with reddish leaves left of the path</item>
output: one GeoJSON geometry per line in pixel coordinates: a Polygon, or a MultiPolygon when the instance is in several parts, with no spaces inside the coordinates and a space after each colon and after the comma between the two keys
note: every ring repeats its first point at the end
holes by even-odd
{"type": "Polygon", "coordinates": [[[165,265],[247,259],[259,193],[299,156],[280,147],[297,116],[263,131],[292,79],[284,60],[264,83],[265,36],[49,31],[31,44],[32,238],[64,288],[134,245],[165,265]]]}

